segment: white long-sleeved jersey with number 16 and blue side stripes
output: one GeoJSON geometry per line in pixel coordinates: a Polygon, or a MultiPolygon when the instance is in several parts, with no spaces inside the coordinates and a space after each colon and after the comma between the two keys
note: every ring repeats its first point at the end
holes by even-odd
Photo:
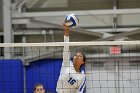
{"type": "MultiPolygon", "coordinates": [[[[69,37],[64,36],[64,40],[65,42],[69,42],[69,37]]],[[[85,83],[84,67],[81,68],[80,72],[75,71],[73,62],[70,61],[69,46],[64,46],[63,63],[56,91],[58,93],[83,93],[85,83]]]]}

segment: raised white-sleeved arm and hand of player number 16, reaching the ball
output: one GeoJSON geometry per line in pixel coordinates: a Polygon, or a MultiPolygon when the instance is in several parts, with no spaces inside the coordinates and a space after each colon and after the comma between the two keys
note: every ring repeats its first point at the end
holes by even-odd
{"type": "MultiPolygon", "coordinates": [[[[67,27],[65,24],[64,26],[64,42],[69,42],[69,27],[67,27]]],[[[63,65],[69,66],[70,65],[70,51],[69,46],[65,45],[63,50],[63,65]]]]}

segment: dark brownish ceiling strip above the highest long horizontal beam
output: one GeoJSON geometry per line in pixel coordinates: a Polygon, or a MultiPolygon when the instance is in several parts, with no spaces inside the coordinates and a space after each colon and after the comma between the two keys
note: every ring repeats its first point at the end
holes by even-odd
{"type": "Polygon", "coordinates": [[[71,11],[140,8],[140,0],[26,0],[28,11],[71,11]]]}

